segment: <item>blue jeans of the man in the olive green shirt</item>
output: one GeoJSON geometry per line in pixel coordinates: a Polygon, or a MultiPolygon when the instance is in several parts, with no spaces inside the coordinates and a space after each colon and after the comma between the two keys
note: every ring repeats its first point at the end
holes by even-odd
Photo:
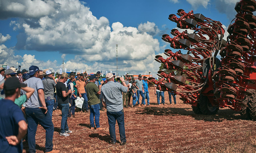
{"type": "Polygon", "coordinates": [[[90,125],[91,127],[95,127],[94,126],[94,116],[95,116],[95,125],[96,128],[100,127],[99,126],[99,104],[95,104],[95,105],[90,105],[90,125]]]}

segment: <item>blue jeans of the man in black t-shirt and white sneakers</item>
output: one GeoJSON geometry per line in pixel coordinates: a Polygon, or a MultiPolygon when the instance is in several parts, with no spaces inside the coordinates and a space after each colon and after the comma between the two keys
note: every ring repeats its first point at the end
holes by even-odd
{"type": "Polygon", "coordinates": [[[69,130],[67,126],[67,114],[69,110],[69,103],[67,104],[59,104],[61,108],[62,118],[61,118],[61,133],[65,133],[65,131],[69,130]]]}

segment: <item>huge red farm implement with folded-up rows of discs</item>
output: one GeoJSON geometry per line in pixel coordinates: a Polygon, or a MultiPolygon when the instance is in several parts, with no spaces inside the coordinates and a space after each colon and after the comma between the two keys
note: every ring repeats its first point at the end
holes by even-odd
{"type": "Polygon", "coordinates": [[[256,16],[252,13],[256,11],[256,1],[241,0],[235,10],[227,41],[219,21],[182,9],[177,13],[180,17],[170,14],[169,20],[177,23],[178,28],[194,32],[172,29],[171,36],[163,34],[162,39],[187,54],[166,49],[167,58],[157,55],[155,60],[181,75],[158,71],[162,79],[149,80],[162,91],[180,95],[195,113],[215,114],[219,108],[228,107],[256,120],[256,16]]]}

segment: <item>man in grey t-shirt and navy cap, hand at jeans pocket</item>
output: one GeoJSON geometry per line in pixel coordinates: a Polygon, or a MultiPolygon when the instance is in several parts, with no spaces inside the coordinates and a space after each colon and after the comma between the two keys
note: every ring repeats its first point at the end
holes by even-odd
{"type": "MultiPolygon", "coordinates": [[[[44,99],[44,85],[40,78],[39,68],[35,65],[29,67],[29,76],[24,83],[30,88],[34,88],[34,94],[26,102],[26,120],[28,122],[28,144],[29,153],[35,153],[35,133],[37,130],[38,123],[46,130],[46,142],[45,152],[46,153],[59,153],[59,150],[52,150],[52,137],[54,126],[52,118],[47,110],[45,99],[44,99]]],[[[26,94],[23,91],[23,94],[26,94]]]]}

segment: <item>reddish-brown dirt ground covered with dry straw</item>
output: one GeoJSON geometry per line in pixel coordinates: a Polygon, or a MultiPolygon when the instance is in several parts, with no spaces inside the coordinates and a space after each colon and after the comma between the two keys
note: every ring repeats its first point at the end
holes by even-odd
{"type": "MultiPolygon", "coordinates": [[[[239,112],[221,109],[216,115],[196,115],[191,105],[183,104],[179,96],[177,105],[157,105],[154,89],[149,89],[150,104],[146,107],[125,108],[125,134],[127,145],[120,146],[116,123],[117,144],[111,145],[108,117],[100,112],[100,125],[105,130],[90,130],[89,113],[76,112],[68,118],[73,133],[60,136],[61,111],[53,112],[55,127],[53,148],[61,153],[255,153],[256,122],[243,120],[239,112]]],[[[140,98],[141,102],[141,98],[140,98]]],[[[23,141],[23,153],[28,144],[23,141]]],[[[37,153],[45,150],[45,130],[38,125],[37,153]]]]}

